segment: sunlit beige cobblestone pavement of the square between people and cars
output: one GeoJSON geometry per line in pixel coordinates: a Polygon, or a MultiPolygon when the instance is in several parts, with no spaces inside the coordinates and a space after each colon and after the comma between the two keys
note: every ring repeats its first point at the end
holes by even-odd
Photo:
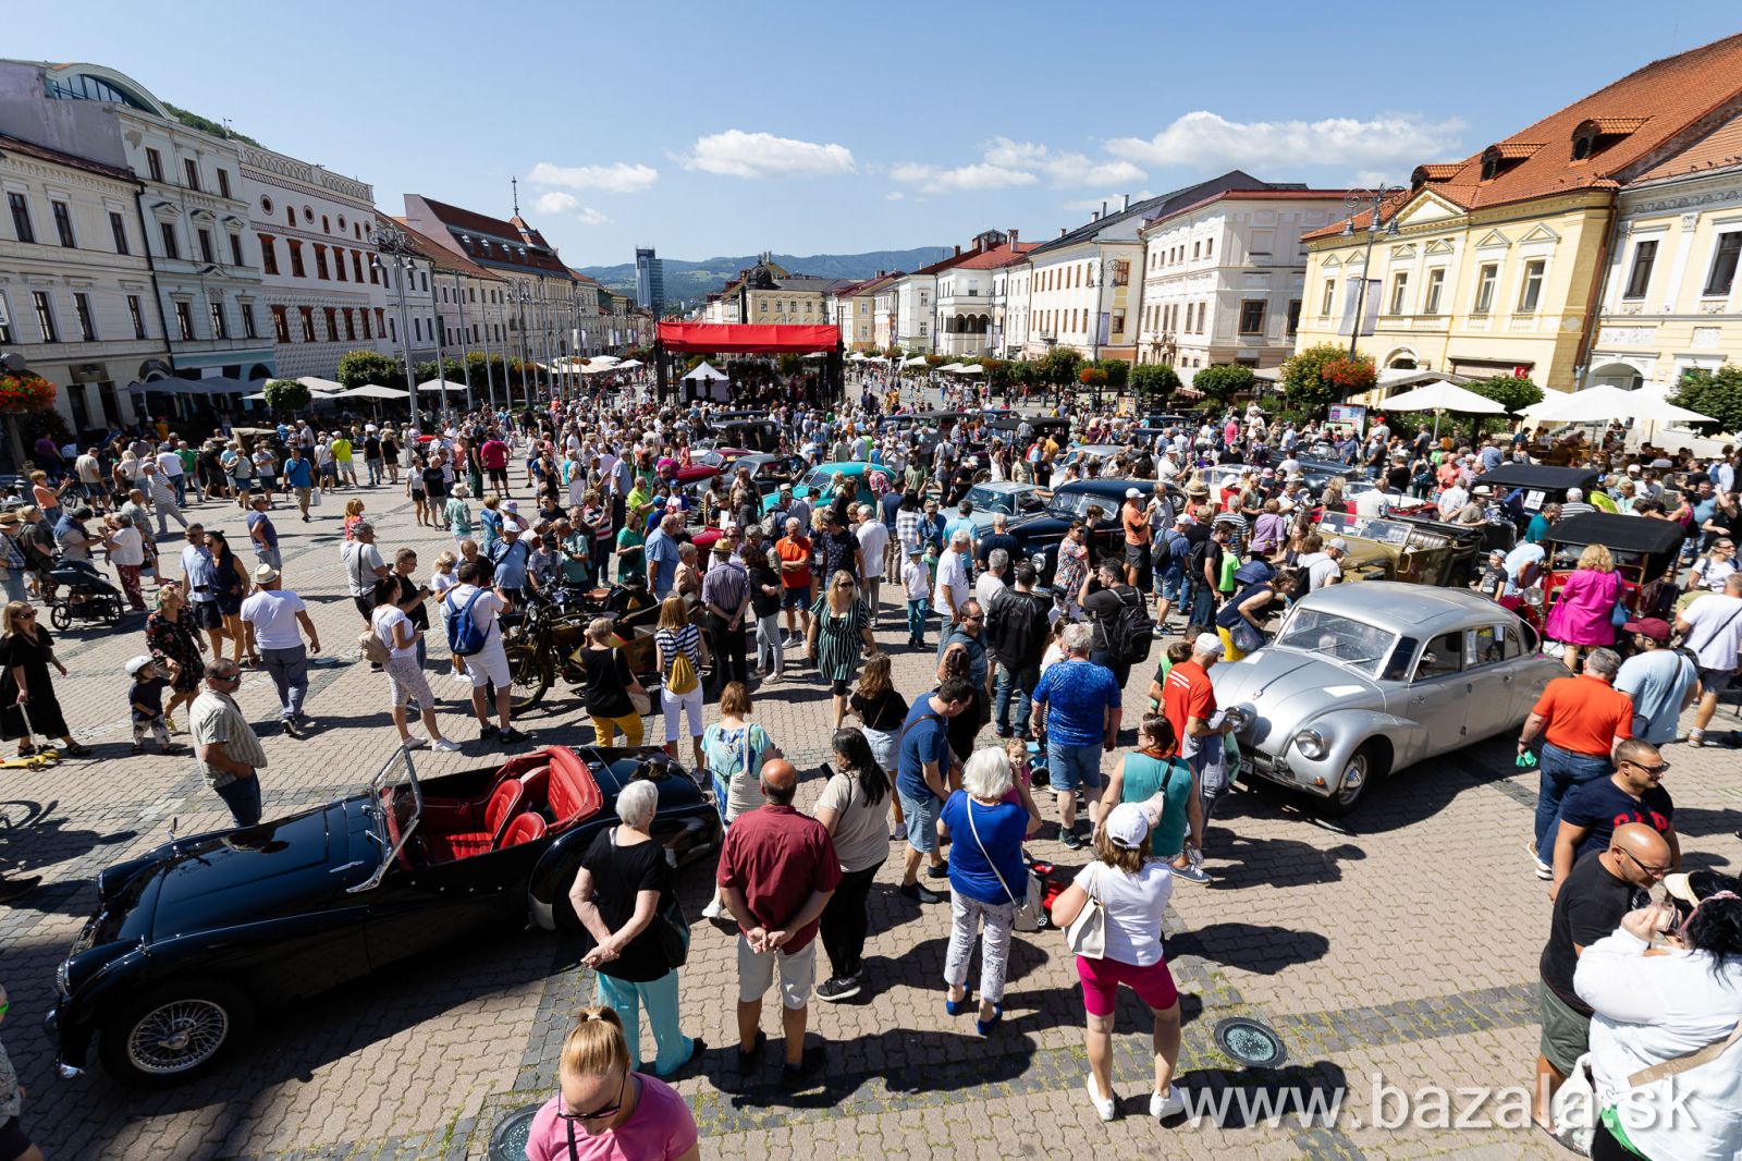
{"type": "MultiPolygon", "coordinates": [[[[362,495],[381,521],[383,547],[418,547],[427,570],[448,540],[415,526],[406,500],[387,488],[362,495]]],[[[197,513],[240,530],[233,507],[197,513]]],[[[265,739],[268,816],[354,788],[394,739],[385,682],[355,662],[359,626],[336,563],[338,514],[329,502],[301,525],[279,509],[287,584],[310,601],[340,662],[314,671],[308,710],[321,729],[305,741],[265,739]]],[[[897,680],[913,696],[928,689],[930,652],[902,650],[895,614],[885,600],[881,642],[897,650],[897,680]]],[[[141,645],[138,621],[115,633],[64,633],[71,676],[57,690],[98,757],[0,772],[0,865],[45,877],[0,915],[0,980],[12,999],[3,1035],[30,1090],[30,1131],[51,1158],[484,1156],[500,1116],[550,1091],[568,1013],[592,994],[575,969],[577,950],[537,931],[503,931],[270,1018],[226,1067],[181,1090],[127,1091],[99,1069],[73,1081],[54,1074],[40,1020],[54,966],[91,913],[91,877],[160,842],[171,819],[190,833],[226,818],[186,758],[127,757],[122,664],[141,645]]],[[[1144,689],[1141,676],[1131,682],[1127,722],[1144,689]]],[[[476,739],[462,692],[437,682],[448,732],[476,739]]],[[[256,722],[272,720],[270,680],[249,675],[240,703],[256,722]]],[[[815,682],[789,678],[758,699],[758,718],[807,771],[805,807],[819,790],[810,774],[826,757],[827,715],[815,682]]],[[[578,703],[561,689],[524,725],[538,744],[591,739],[578,703]]],[[[1688,746],[1667,755],[1690,865],[1735,866],[1735,755],[1688,746]]],[[[418,764],[444,772],[498,758],[498,748],[472,741],[467,753],[425,753],[418,764]]],[[[1418,1107],[1402,1128],[1374,1126],[1369,1109],[1374,1077],[1401,1091],[1529,1077],[1531,987],[1549,920],[1543,884],[1521,849],[1533,800],[1533,779],[1500,743],[1388,779],[1341,828],[1315,823],[1266,788],[1240,791],[1219,811],[1207,851],[1216,882],[1174,891],[1167,943],[1185,994],[1181,1079],[1230,1098],[1347,1088],[1334,1128],[1294,1116],[1265,1124],[1265,1110],[1242,1116],[1239,1103],[1221,1126],[1157,1126],[1146,1116],[1146,1015],[1129,994],[1115,1065],[1122,1116],[1101,1124],[1084,1098],[1082,999],[1061,936],[1017,938],[1003,1027],[982,1041],[967,1016],[942,1015],[948,908],[916,913],[902,901],[895,859],[869,903],[871,987],[854,1002],[812,1006],[812,1035],[827,1044],[826,1081],[784,1096],[770,1070],[733,1091],[732,938],[699,924],[683,969],[683,1018],[709,1048],[678,1088],[693,1103],[704,1154],[721,1158],[1556,1156],[1531,1128],[1493,1126],[1496,1117],[1516,1124],[1516,1109],[1510,1119],[1503,1107],[1479,1109],[1484,1128],[1448,1128],[1465,1102],[1418,1107]],[[1230,1016],[1273,1025],[1287,1060],[1240,1070],[1212,1039],[1230,1016]]],[[[1042,807],[1050,807],[1045,795],[1042,807]]],[[[1042,833],[1049,838],[1031,851],[1068,870],[1082,865],[1050,840],[1050,828],[1042,833]]],[[[700,912],[707,889],[706,870],[681,875],[688,913],[700,912]]],[[[765,1020],[777,1035],[773,1013],[765,1020]]]]}

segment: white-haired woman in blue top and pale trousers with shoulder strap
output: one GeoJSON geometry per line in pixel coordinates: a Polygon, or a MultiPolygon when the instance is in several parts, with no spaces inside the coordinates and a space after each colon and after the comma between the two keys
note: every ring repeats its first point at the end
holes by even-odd
{"type": "Polygon", "coordinates": [[[976,1027],[991,1032],[1003,1016],[1003,976],[1010,961],[1010,924],[1028,887],[1023,838],[1028,811],[1007,802],[1010,758],[1003,750],[976,750],[962,771],[962,790],[949,795],[937,818],[941,837],[955,835],[949,851],[949,954],[944,1011],[958,1015],[969,999],[969,959],[981,933],[981,1002],[976,1027]]]}

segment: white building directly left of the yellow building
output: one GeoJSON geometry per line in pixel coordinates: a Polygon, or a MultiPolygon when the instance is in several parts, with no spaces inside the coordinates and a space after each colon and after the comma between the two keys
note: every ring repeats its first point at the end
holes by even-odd
{"type": "Polygon", "coordinates": [[[1341,216],[1345,195],[1228,190],[1146,221],[1138,361],[1280,366],[1305,298],[1301,234],[1341,216]]]}

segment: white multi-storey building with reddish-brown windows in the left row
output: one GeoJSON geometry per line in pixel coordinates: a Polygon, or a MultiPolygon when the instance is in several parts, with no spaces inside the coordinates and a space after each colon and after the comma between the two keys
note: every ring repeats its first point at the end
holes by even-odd
{"type": "Polygon", "coordinates": [[[375,192],[258,145],[240,148],[279,375],[333,378],[347,350],[392,352],[387,286],[371,261],[375,192]]]}

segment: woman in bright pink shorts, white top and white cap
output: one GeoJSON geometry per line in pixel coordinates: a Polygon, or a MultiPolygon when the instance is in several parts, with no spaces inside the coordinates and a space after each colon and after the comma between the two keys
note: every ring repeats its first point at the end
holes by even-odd
{"type": "Polygon", "coordinates": [[[1174,891],[1164,859],[1150,858],[1150,826],[1162,812],[1160,795],[1146,802],[1122,802],[1094,830],[1096,858],[1052,905],[1052,922],[1068,927],[1092,898],[1106,919],[1106,947],[1099,959],[1077,957],[1084,983],[1089,1029],[1089,1102],[1103,1121],[1117,1110],[1113,1096],[1113,1001],[1124,983],[1155,1013],[1155,1090],[1150,1116],[1162,1119],[1185,1112],[1174,1084],[1179,1063],[1179,992],[1162,955],[1162,915],[1174,891]]]}

